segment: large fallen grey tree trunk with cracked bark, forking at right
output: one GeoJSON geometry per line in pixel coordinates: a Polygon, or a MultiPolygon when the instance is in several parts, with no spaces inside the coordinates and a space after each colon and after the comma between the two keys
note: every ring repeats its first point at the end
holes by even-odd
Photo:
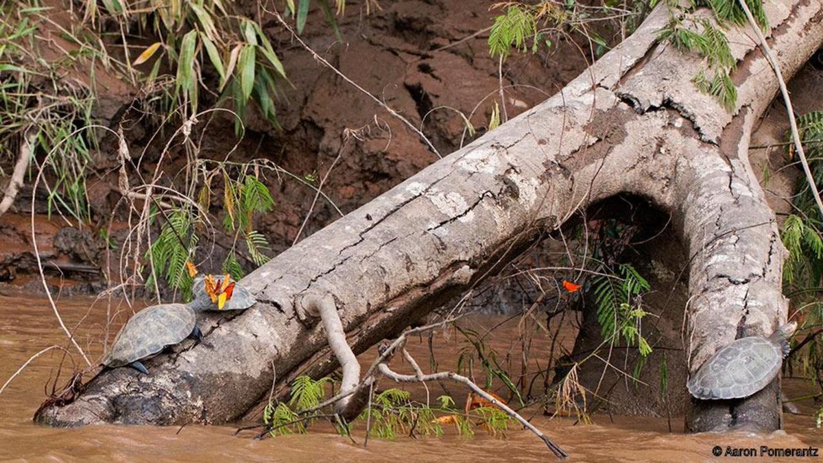
{"type": "MultiPolygon", "coordinates": [[[[823,42],[823,2],[766,6],[791,76],[823,42]]],[[[690,369],[785,318],[783,247],[747,159],[752,125],[777,89],[746,29],[730,30],[737,108],[697,91],[702,59],[658,44],[658,7],[634,35],[555,96],[436,162],[278,255],[243,282],[258,304],[206,320],[205,339],[97,376],[71,405],[36,419],[88,423],[224,423],[298,374],[336,367],[305,303],[331,295],[356,352],[493,274],[574,211],[619,193],[672,213],[690,255],[690,369]]],[[[677,385],[684,387],[685,385],[677,385]]],[[[779,428],[776,381],[729,404],[695,402],[692,430],[779,428]]]]}

